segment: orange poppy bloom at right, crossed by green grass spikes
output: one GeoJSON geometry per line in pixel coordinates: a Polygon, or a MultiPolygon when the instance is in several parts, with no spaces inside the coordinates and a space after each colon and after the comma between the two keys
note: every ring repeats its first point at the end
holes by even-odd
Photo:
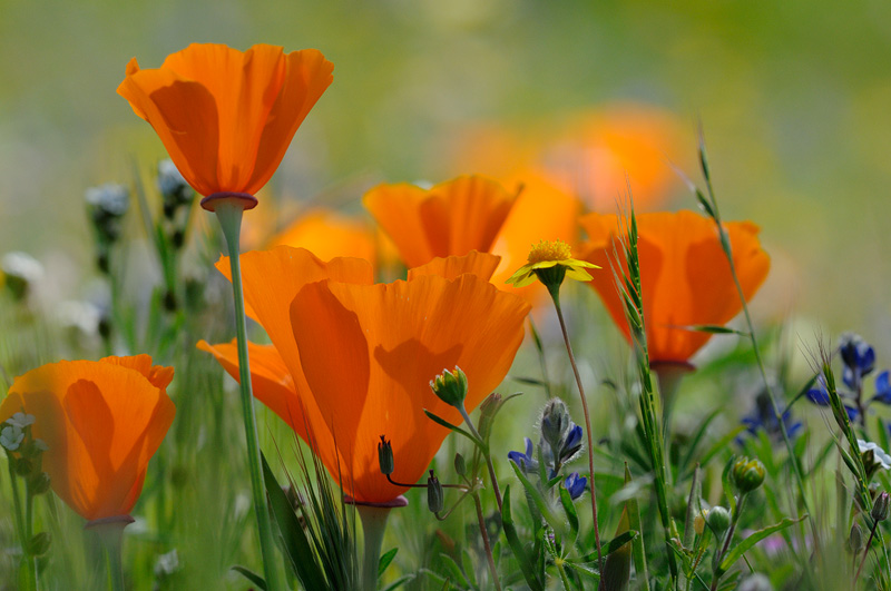
{"type": "MultiPolygon", "coordinates": [[[[589,238],[582,258],[608,269],[613,239],[620,235],[617,217],[589,214],[580,221],[589,238]]],[[[767,276],[770,257],[761,248],[756,225],[728,221],[724,227],[743,294],[750,299],[767,276]]],[[[650,364],[688,365],[687,359],[711,337],[689,327],[723,325],[742,309],[717,230],[711,219],[693,211],[640,214],[637,229],[650,364]]],[[[593,276],[589,285],[630,338],[613,274],[593,276]]]]}

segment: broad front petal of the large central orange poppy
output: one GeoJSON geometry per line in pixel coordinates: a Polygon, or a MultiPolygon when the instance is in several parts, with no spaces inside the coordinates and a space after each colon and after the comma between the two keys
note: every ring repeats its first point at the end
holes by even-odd
{"type": "Polygon", "coordinates": [[[520,298],[469,274],[452,282],[419,276],[389,285],[304,287],[291,308],[294,337],[304,367],[313,367],[307,383],[352,477],[344,490],[369,502],[403,492],[378,470],[382,434],[393,443],[393,477],[417,481],[448,434],[422,408],[461,421],[429,382],[460,366],[472,410],[507,374],[528,311],[520,298]]]}

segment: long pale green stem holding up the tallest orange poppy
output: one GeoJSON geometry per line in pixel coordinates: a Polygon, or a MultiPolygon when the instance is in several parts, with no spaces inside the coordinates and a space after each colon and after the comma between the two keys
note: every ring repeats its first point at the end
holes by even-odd
{"type": "Polygon", "coordinates": [[[266,491],[260,472],[260,440],[257,439],[257,422],[254,414],[254,395],[251,387],[251,366],[247,356],[247,325],[244,315],[244,290],[242,288],[242,266],[238,258],[241,254],[239,238],[242,229],[243,204],[236,199],[222,200],[216,205],[216,217],[223,228],[228,246],[229,264],[232,265],[232,288],[235,298],[235,334],[238,341],[238,382],[242,391],[242,411],[244,418],[245,439],[247,440],[247,460],[251,469],[251,492],[254,495],[254,513],[257,516],[260,530],[260,551],[263,556],[263,572],[266,578],[266,589],[281,591],[284,589],[280,579],[278,569],[274,560],[274,544],[272,538],[272,522],[266,504],[266,491]]]}

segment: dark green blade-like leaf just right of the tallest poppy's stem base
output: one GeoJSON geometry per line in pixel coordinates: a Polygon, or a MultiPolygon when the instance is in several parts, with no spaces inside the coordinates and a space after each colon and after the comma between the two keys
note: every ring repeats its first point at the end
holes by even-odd
{"type": "Polygon", "coordinates": [[[262,453],[261,461],[263,463],[263,481],[270,498],[270,509],[278,525],[282,545],[294,574],[306,589],[327,589],[327,581],[316,562],[316,556],[300,524],[297,514],[294,513],[291,502],[275,480],[270,464],[266,463],[266,456],[262,453]]]}

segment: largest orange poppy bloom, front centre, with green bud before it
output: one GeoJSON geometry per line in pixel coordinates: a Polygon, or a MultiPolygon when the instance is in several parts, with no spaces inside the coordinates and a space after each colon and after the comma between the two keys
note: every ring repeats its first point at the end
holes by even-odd
{"type": "MultiPolygon", "coordinates": [[[[415,482],[449,433],[423,408],[461,422],[429,382],[460,366],[472,410],[522,342],[529,306],[488,282],[497,264],[471,253],[434,259],[408,280],[373,284],[364,260],[323,263],[288,247],[242,255],[245,301],[272,341],[249,348],[255,396],[312,439],[346,494],[366,503],[395,499],[405,489],[380,473],[380,435],[392,440],[393,479],[415,482]]],[[[217,268],[226,273],[228,262],[217,268]]],[[[235,342],[198,347],[237,380],[235,342]]]]}

